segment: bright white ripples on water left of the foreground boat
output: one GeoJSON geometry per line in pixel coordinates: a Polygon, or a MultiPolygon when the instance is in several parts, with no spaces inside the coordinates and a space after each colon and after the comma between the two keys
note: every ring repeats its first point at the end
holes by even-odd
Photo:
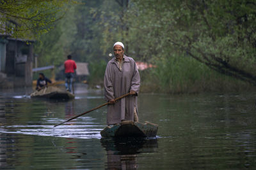
{"type": "MultiPolygon", "coordinates": [[[[86,117],[86,120],[90,120],[90,118],[86,117]]],[[[58,127],[52,125],[63,121],[58,118],[52,118],[45,121],[51,125],[40,125],[40,122],[34,122],[34,125],[6,125],[1,126],[0,132],[63,138],[100,139],[100,131],[105,126],[92,122],[67,122],[58,127]]]]}

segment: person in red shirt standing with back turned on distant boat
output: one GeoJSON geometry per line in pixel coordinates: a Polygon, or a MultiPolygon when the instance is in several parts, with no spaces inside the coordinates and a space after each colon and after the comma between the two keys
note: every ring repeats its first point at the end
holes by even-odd
{"type": "Polygon", "coordinates": [[[68,59],[64,62],[65,67],[65,86],[67,91],[71,92],[72,82],[76,69],[76,62],[72,60],[72,56],[68,55],[68,59]]]}

